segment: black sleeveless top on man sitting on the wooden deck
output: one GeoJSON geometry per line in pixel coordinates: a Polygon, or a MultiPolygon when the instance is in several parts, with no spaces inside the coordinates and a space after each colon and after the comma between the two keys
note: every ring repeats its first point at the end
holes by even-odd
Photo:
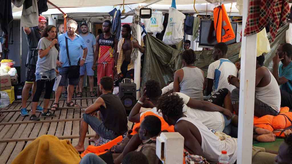
{"type": "Polygon", "coordinates": [[[123,135],[128,131],[128,119],[121,99],[112,93],[100,95],[100,97],[107,107],[100,107],[101,120],[105,123],[105,127],[114,131],[118,136],[123,135]]]}

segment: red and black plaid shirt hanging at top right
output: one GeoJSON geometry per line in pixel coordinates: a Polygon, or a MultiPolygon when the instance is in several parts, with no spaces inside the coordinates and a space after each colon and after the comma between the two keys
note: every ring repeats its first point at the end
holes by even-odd
{"type": "Polygon", "coordinates": [[[270,22],[271,40],[274,41],[289,13],[289,0],[250,0],[244,36],[260,32],[270,22]]]}

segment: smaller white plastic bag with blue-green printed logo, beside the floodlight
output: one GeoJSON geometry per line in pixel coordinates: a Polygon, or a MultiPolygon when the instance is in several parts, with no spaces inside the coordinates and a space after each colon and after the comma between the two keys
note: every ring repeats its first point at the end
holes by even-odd
{"type": "Polygon", "coordinates": [[[146,32],[161,32],[163,30],[163,15],[161,11],[152,12],[150,19],[143,19],[146,32]]]}

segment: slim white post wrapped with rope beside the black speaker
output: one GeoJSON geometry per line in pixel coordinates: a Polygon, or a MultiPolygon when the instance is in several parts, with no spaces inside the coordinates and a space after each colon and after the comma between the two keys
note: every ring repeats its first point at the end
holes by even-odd
{"type": "MultiPolygon", "coordinates": [[[[136,14],[139,15],[139,11],[136,11],[136,14]]],[[[136,34],[137,40],[141,45],[141,27],[139,24],[136,24],[136,34]]],[[[141,74],[141,52],[138,50],[138,56],[134,63],[134,82],[137,85],[137,90],[140,89],[140,74],[141,74]]],[[[136,92],[137,100],[140,98],[140,91],[136,92]]]]}

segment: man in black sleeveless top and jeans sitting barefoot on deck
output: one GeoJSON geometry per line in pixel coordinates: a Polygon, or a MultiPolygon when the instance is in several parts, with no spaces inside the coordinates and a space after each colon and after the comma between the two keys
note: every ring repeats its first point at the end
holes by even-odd
{"type": "Polygon", "coordinates": [[[85,109],[80,125],[80,137],[77,151],[84,151],[84,139],[88,130],[88,124],[102,138],[115,139],[128,130],[126,110],[120,98],[112,94],[114,81],[110,77],[103,77],[100,80],[100,91],[102,95],[85,109]],[[101,113],[101,121],[97,118],[97,111],[101,113]]]}

